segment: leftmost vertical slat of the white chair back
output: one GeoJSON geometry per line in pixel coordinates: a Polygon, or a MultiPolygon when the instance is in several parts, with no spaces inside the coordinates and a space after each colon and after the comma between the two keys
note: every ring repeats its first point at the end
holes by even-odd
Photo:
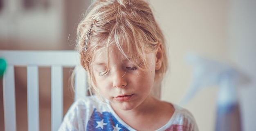
{"type": "Polygon", "coordinates": [[[14,67],[8,66],[3,77],[4,130],[16,131],[14,67]]]}

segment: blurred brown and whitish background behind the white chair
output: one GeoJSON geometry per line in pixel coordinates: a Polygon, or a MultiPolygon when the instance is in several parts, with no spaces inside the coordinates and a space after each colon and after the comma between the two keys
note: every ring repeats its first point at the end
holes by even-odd
{"type": "MultiPolygon", "coordinates": [[[[76,26],[90,0],[0,0],[1,50],[74,50],[76,26]]],[[[25,59],[25,58],[24,58],[25,59]]],[[[39,67],[40,131],[51,130],[51,69],[39,67]]],[[[27,131],[27,70],[15,67],[17,131],[27,131]]],[[[64,111],[74,101],[71,68],[63,69],[64,111]]],[[[0,131],[4,131],[2,79],[0,131]]]]}

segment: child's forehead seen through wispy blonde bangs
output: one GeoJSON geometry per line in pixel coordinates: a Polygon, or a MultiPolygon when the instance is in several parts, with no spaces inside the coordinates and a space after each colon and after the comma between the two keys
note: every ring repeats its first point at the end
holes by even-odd
{"type": "Polygon", "coordinates": [[[115,55],[119,60],[129,60],[133,63],[145,59],[148,47],[144,47],[144,42],[136,45],[134,40],[128,40],[128,38],[119,37],[118,40],[116,41],[115,38],[94,39],[90,45],[92,47],[90,61],[109,62],[109,59],[115,55]]]}

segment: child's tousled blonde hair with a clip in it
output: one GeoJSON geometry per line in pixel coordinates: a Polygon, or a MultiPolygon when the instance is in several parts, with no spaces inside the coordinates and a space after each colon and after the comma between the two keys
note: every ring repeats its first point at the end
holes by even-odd
{"type": "Polygon", "coordinates": [[[92,75],[96,53],[116,46],[141,69],[137,60],[146,64],[146,53],[156,53],[159,43],[163,47],[163,60],[162,67],[155,72],[157,81],[162,80],[168,62],[165,39],[149,4],[143,0],[96,0],[78,25],[76,40],[81,65],[88,73],[90,91],[99,93],[92,75]],[[128,52],[126,54],[124,47],[128,52]]]}

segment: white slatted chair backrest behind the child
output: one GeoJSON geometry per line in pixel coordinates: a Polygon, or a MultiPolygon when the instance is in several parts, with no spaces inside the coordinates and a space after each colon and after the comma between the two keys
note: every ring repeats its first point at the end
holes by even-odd
{"type": "Polygon", "coordinates": [[[87,94],[86,72],[80,66],[76,51],[5,51],[0,57],[7,61],[3,76],[4,127],[16,131],[14,67],[27,67],[28,131],[39,131],[38,67],[51,67],[51,128],[56,131],[63,119],[63,67],[75,67],[75,100],[87,94]]]}

